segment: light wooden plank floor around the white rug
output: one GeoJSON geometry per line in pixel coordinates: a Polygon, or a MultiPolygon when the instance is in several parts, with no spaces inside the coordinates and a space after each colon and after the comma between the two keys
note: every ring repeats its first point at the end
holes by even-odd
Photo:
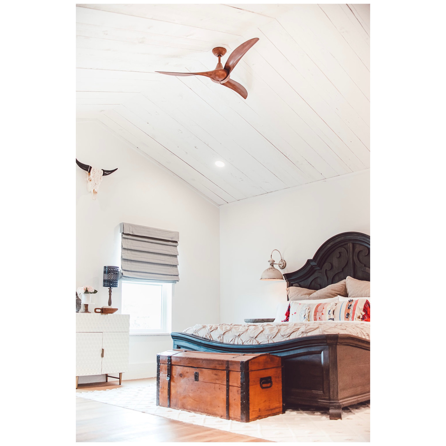
{"type": "MultiPolygon", "coordinates": [[[[148,384],[153,379],[79,384],[76,392],[148,384]]],[[[76,442],[265,442],[219,429],[138,412],[132,409],[76,398],[76,442]]]]}

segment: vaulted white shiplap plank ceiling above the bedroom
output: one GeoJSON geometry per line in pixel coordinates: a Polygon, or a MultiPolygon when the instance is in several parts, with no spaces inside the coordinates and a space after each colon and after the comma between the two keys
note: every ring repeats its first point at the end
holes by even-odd
{"type": "Polygon", "coordinates": [[[368,4],[76,8],[77,118],[216,204],[369,168],[368,4]],[[224,65],[252,37],[231,73],[246,100],[202,76],[155,73],[213,70],[212,48],[227,49],[224,65]]]}

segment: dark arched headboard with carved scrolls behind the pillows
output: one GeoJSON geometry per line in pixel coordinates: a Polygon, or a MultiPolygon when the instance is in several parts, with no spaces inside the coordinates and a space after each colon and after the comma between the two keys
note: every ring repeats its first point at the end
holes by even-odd
{"type": "Polygon", "coordinates": [[[286,286],[321,289],[347,276],[370,281],[370,235],[342,232],[328,239],[312,259],[283,275],[286,286]]]}

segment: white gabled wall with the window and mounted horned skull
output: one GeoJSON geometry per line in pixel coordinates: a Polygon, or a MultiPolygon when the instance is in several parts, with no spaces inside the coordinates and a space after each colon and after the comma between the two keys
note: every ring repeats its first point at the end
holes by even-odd
{"type": "MultiPolygon", "coordinates": [[[[76,157],[84,164],[118,170],[103,177],[94,201],[87,192],[86,172],[76,166],[75,288],[94,286],[98,293],[93,295],[93,307],[107,305],[103,266],[120,265],[121,222],[178,231],[180,281],[173,285],[172,331],[198,322],[218,323],[218,207],[99,121],[77,123],[76,157]]],[[[113,289],[112,306],[121,307],[120,287],[113,289]]],[[[130,367],[123,379],[156,376],[156,354],[169,348],[169,335],[130,336],[130,367]]],[[[103,378],[80,377],[79,383],[103,378]]]]}

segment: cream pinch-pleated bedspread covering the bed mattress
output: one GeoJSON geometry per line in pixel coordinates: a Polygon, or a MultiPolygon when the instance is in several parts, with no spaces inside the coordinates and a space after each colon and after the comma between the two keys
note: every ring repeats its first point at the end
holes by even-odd
{"type": "Polygon", "coordinates": [[[314,335],[352,335],[370,341],[370,322],[266,322],[213,324],[186,328],[184,333],[228,344],[269,344],[314,335]]]}

